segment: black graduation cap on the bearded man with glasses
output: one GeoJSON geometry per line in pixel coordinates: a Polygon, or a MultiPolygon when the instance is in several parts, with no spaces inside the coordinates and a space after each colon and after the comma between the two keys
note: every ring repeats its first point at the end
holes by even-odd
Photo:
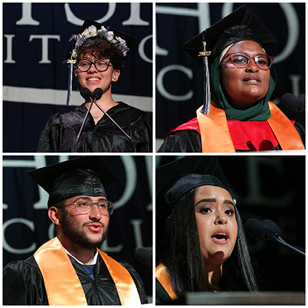
{"type": "Polygon", "coordinates": [[[27,172],[49,193],[48,207],[73,196],[107,196],[103,184],[119,181],[99,156],[84,156],[27,172]]]}

